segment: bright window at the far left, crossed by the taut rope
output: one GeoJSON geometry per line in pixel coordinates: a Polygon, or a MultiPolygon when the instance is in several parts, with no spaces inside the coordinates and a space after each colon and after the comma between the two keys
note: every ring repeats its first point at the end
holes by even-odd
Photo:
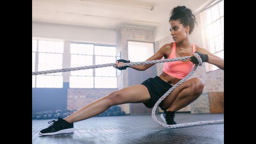
{"type": "MultiPolygon", "coordinates": [[[[32,71],[62,68],[63,42],[32,40],[32,71]]],[[[62,73],[32,76],[32,87],[62,88],[62,73]]]]}

